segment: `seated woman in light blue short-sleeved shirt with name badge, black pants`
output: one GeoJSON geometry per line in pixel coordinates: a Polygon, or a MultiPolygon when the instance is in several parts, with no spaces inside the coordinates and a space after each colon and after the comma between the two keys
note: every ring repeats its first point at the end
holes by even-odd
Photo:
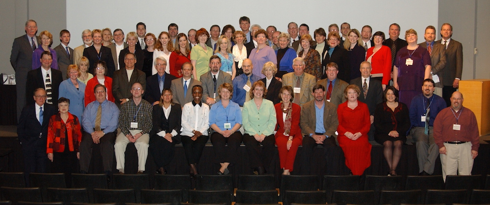
{"type": "Polygon", "coordinates": [[[238,103],[230,100],[233,95],[233,85],[221,84],[218,87],[218,94],[221,100],[211,107],[209,125],[214,130],[211,134],[211,143],[215,150],[215,159],[221,165],[218,174],[227,175],[230,173],[228,165],[235,162],[237,149],[242,143],[243,136],[239,130],[242,127],[242,111],[238,103]]]}

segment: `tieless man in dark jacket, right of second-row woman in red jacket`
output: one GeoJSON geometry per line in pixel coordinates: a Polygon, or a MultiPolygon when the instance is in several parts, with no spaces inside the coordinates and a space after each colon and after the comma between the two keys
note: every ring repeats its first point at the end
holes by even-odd
{"type": "Polygon", "coordinates": [[[115,103],[119,108],[131,98],[131,86],[135,82],[139,82],[143,87],[143,90],[146,88],[146,74],[143,71],[134,69],[135,63],[136,55],[132,52],[128,52],[124,55],[124,64],[126,64],[125,69],[114,72],[114,78],[112,79],[112,95],[116,99],[115,103]]]}

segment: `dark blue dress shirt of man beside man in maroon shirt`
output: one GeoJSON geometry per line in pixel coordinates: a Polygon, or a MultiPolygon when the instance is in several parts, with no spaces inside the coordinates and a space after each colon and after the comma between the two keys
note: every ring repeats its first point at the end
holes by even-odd
{"type": "Polygon", "coordinates": [[[446,108],[446,102],[444,99],[438,95],[432,95],[432,97],[427,98],[424,94],[420,93],[412,99],[410,103],[410,122],[414,127],[425,127],[425,121],[421,121],[421,116],[425,116],[425,110],[427,109],[427,101],[430,103],[430,120],[429,126],[434,126],[434,119],[441,112],[442,109],[446,108]]]}

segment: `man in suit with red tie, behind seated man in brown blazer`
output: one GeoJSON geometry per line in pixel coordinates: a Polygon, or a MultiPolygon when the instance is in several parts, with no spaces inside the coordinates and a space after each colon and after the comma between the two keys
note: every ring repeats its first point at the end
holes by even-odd
{"type": "Polygon", "coordinates": [[[339,74],[339,66],[337,63],[328,63],[325,69],[327,78],[317,81],[317,84],[323,85],[326,89],[325,100],[339,106],[340,103],[346,101],[343,97],[343,90],[349,85],[347,82],[337,78],[339,74]]]}

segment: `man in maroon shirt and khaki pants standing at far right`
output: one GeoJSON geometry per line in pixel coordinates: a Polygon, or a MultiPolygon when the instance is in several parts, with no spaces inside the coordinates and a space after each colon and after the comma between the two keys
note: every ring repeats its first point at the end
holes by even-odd
{"type": "Polygon", "coordinates": [[[463,101],[463,94],[454,92],[451,106],[442,109],[434,121],[434,140],[439,147],[444,181],[447,175],[471,175],[478,156],[480,134],[476,116],[463,107],[463,101]]]}

